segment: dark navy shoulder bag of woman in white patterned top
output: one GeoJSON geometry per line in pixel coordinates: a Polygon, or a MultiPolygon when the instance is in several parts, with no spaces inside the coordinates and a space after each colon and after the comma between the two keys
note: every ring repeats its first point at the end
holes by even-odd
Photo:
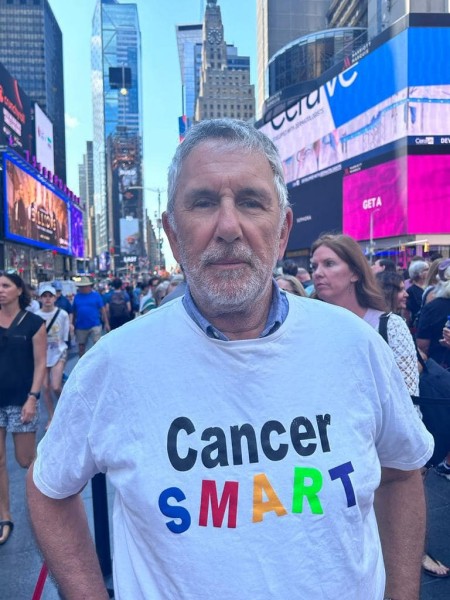
{"type": "MultiPolygon", "coordinates": [[[[380,316],[378,333],[389,344],[387,322],[391,313],[380,316]]],[[[425,427],[434,437],[434,452],[427,463],[431,467],[439,464],[450,450],[450,371],[432,358],[426,361],[417,350],[417,360],[422,367],[419,377],[419,395],[411,396],[420,406],[425,427]]]]}

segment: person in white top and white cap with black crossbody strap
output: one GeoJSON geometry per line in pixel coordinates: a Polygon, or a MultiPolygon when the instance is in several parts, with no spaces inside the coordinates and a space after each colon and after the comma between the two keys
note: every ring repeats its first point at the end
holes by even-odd
{"type": "Polygon", "coordinates": [[[69,315],[56,306],[56,298],[56,290],[50,283],[40,286],[42,306],[36,314],[44,319],[47,329],[47,372],[42,385],[42,396],[48,412],[47,428],[55,412],[54,404],[61,395],[69,344],[69,315]]]}

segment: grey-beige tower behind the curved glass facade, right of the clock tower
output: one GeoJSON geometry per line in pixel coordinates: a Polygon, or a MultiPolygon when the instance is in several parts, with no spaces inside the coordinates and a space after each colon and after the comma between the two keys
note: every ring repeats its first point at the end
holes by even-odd
{"type": "Polygon", "coordinates": [[[267,67],[286,44],[326,28],[330,0],[256,0],[258,116],[269,95],[267,67]]]}

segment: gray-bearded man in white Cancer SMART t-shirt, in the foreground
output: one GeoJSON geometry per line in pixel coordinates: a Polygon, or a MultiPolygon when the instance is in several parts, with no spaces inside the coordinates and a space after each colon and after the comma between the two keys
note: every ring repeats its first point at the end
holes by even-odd
{"type": "Polygon", "coordinates": [[[28,477],[64,597],[107,598],[78,496],[104,471],[120,600],[417,600],[431,436],[381,336],[274,283],[292,225],[275,147],[203,121],[168,193],[186,292],[78,363],[28,477]]]}

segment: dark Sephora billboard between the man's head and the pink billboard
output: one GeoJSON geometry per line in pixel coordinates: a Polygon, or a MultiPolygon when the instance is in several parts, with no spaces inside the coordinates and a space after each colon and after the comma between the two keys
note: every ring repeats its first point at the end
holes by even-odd
{"type": "Polygon", "coordinates": [[[342,172],[289,189],[294,220],[287,252],[309,248],[322,233],[342,231],[342,172]]]}

